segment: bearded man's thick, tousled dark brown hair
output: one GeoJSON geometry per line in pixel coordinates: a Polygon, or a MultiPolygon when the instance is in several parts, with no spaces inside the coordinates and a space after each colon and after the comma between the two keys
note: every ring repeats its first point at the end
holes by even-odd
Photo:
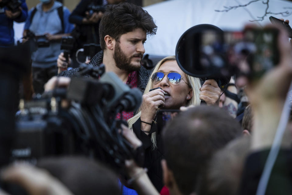
{"type": "Polygon", "coordinates": [[[157,26],[152,16],[138,5],[120,3],[108,5],[99,24],[100,46],[104,50],[106,43],[104,37],[109,35],[119,40],[122,34],[141,28],[147,34],[156,34],[157,26]]]}

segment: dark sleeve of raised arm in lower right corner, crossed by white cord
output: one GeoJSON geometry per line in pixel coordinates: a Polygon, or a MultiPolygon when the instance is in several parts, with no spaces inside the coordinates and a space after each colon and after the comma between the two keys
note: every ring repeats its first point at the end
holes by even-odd
{"type": "MultiPolygon", "coordinates": [[[[249,155],[243,170],[240,195],[256,194],[268,154],[269,150],[263,150],[249,155]]],[[[291,165],[292,150],[280,150],[269,178],[266,195],[292,194],[291,165]]]]}

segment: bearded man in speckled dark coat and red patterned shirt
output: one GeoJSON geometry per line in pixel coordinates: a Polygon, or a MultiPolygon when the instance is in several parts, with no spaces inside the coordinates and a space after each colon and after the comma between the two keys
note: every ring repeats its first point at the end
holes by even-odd
{"type": "MultiPolygon", "coordinates": [[[[114,72],[124,83],[143,93],[151,72],[140,62],[145,53],[146,35],[154,35],[156,30],[153,18],[140,6],[131,3],[108,5],[99,25],[102,51],[89,64],[99,66],[103,63],[106,72],[114,72]]],[[[63,71],[59,76],[71,77],[78,71],[78,68],[63,71]]],[[[133,116],[133,112],[122,113],[123,120],[133,116]]]]}

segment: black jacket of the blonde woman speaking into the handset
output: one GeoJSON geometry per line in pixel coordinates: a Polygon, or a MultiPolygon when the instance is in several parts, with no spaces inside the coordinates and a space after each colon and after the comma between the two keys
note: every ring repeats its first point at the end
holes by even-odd
{"type": "Polygon", "coordinates": [[[149,135],[146,135],[143,131],[141,131],[140,118],[133,124],[133,131],[143,143],[143,147],[145,150],[144,167],[148,168],[148,177],[155,186],[155,188],[158,190],[158,192],[160,192],[162,187],[164,186],[161,167],[161,160],[164,159],[164,149],[161,134],[159,131],[157,131],[157,126],[153,122],[149,135]],[[156,132],[157,142],[157,148],[155,148],[154,150],[152,149],[151,142],[151,134],[153,132],[156,132]]]}

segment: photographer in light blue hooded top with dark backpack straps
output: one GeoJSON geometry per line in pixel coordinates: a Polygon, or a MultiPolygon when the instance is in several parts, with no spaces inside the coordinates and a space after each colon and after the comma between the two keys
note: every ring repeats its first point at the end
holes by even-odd
{"type": "Polygon", "coordinates": [[[74,28],[68,21],[69,15],[69,10],[54,0],[41,0],[41,3],[29,11],[23,35],[26,36],[31,31],[36,36],[43,35],[37,41],[49,43],[46,47],[39,47],[31,57],[33,87],[36,93],[42,93],[43,85],[57,75],[56,61],[61,53],[61,38],[68,36],[74,28]]]}

